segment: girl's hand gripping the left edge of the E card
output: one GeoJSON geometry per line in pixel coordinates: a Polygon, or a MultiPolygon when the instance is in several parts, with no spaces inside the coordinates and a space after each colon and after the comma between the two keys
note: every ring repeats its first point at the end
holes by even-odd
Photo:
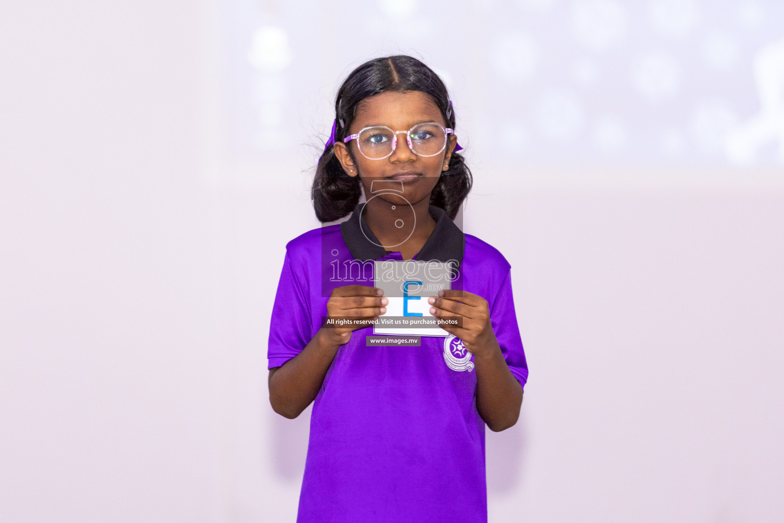
{"type": "MultiPolygon", "coordinates": [[[[351,332],[364,329],[379,319],[380,314],[386,314],[389,304],[383,298],[383,290],[368,285],[343,285],[332,289],[332,295],[327,302],[328,318],[344,318],[353,320],[351,325],[343,327],[330,327],[324,329],[332,343],[345,345],[351,340],[351,332]]],[[[323,328],[322,328],[323,329],[323,328]]]]}

